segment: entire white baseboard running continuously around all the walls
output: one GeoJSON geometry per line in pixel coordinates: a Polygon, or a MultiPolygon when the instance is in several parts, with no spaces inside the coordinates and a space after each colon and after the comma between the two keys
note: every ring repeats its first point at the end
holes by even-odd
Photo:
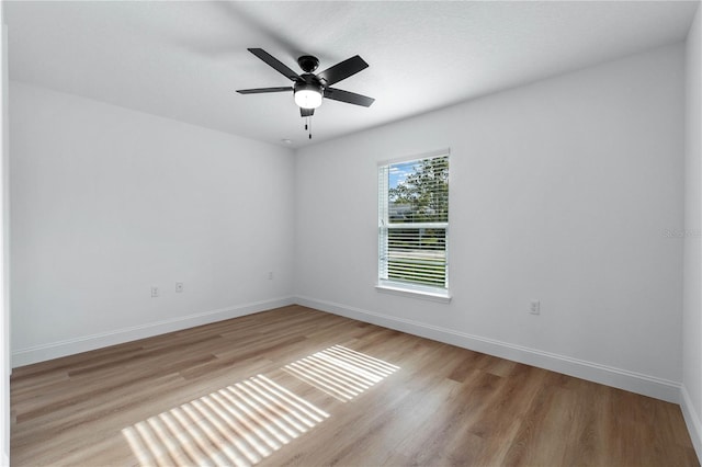
{"type": "Polygon", "coordinates": [[[686,422],[690,428],[691,436],[695,443],[695,449],[698,451],[698,454],[700,453],[700,434],[702,433],[702,429],[700,429],[700,420],[692,410],[689,397],[687,401],[684,400],[687,392],[684,390],[681,391],[681,385],[679,383],[304,296],[262,300],[189,315],[172,320],[158,321],[100,334],[86,335],[77,339],[20,349],[12,352],[12,367],[30,365],[32,363],[58,358],[66,355],[121,344],[167,332],[179,331],[225,319],[237,318],[292,304],[304,305],[309,308],[316,308],[335,315],[344,316],[347,318],[383,326],[385,328],[445,342],[476,352],[487,353],[514,362],[537,366],[540,368],[551,369],[590,381],[654,397],[656,399],[680,403],[682,406],[683,413],[686,414],[686,422]]]}

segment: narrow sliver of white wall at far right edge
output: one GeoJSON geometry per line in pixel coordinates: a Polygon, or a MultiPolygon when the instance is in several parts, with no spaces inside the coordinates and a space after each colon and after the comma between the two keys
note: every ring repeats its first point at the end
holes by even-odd
{"type": "Polygon", "coordinates": [[[690,436],[702,458],[702,32],[698,12],[687,41],[684,295],[682,400],[690,436]]]}

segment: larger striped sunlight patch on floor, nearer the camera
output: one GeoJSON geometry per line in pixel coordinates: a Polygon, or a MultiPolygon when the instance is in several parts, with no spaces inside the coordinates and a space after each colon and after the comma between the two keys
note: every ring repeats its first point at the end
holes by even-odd
{"type": "Polygon", "coordinates": [[[143,466],[251,466],[329,418],[263,375],[122,430],[143,466]]]}

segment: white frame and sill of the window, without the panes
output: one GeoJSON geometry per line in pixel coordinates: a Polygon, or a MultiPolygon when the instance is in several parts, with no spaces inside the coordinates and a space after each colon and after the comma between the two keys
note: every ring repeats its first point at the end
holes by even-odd
{"type": "MultiPolygon", "coordinates": [[[[432,152],[424,152],[421,155],[408,156],[398,159],[380,161],[378,167],[378,264],[377,264],[377,283],[376,291],[382,293],[389,293],[395,295],[401,295],[407,297],[429,299],[433,301],[448,303],[451,300],[451,294],[449,288],[449,221],[445,223],[415,223],[411,225],[392,224],[389,223],[389,182],[388,173],[389,167],[403,162],[421,161],[424,159],[432,159],[437,157],[449,157],[451,150],[442,149],[432,152]],[[392,227],[390,227],[392,226],[392,227]],[[440,228],[445,231],[445,282],[444,286],[432,286],[426,284],[415,284],[409,282],[394,281],[387,278],[387,231],[390,228],[440,228]]],[[[449,159],[450,160],[450,159],[449,159]]],[[[451,164],[449,164],[449,176],[451,174],[451,164]]],[[[451,204],[449,203],[449,206],[451,204]]],[[[449,212],[451,207],[449,207],[449,212]]],[[[449,214],[449,220],[451,220],[451,214],[449,214]]]]}

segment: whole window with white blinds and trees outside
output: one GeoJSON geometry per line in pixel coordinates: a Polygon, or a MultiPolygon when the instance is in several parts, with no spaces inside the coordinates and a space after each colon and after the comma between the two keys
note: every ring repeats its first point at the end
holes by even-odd
{"type": "Polygon", "coordinates": [[[378,167],[378,289],[449,298],[449,150],[378,167]]]}

